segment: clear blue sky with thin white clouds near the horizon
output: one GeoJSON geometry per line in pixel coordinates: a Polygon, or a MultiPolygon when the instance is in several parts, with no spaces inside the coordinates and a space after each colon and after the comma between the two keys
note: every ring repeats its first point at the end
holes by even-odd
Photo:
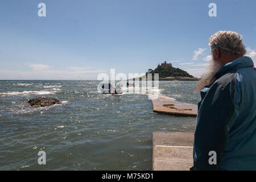
{"type": "Polygon", "coordinates": [[[110,68],[145,73],[163,61],[200,77],[219,30],[241,34],[256,60],[255,8],[255,0],[1,1],[0,79],[95,80],[110,68]],[[212,2],[217,17],[208,15],[212,2]]]}

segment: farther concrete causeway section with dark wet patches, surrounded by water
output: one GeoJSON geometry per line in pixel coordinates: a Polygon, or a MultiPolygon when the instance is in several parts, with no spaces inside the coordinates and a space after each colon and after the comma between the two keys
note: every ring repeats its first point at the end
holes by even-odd
{"type": "Polygon", "coordinates": [[[159,94],[157,99],[152,99],[153,111],[161,114],[171,114],[177,116],[196,117],[197,105],[185,102],[177,102],[174,99],[159,94]]]}

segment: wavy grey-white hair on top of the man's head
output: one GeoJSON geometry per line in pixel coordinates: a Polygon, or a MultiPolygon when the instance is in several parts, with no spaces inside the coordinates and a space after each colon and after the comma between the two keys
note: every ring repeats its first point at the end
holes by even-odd
{"type": "Polygon", "coordinates": [[[209,39],[209,46],[212,51],[214,48],[220,49],[221,53],[227,55],[245,55],[245,45],[242,37],[237,32],[218,31],[209,39]]]}

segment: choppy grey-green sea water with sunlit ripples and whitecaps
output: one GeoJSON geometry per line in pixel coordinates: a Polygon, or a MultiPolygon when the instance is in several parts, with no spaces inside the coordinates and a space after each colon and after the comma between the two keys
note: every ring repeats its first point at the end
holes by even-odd
{"type": "MultiPolygon", "coordinates": [[[[100,81],[0,82],[0,170],[151,170],[152,133],[193,132],[195,117],[152,112],[146,93],[109,96],[100,81]],[[35,97],[61,104],[31,107],[35,97]],[[46,152],[46,165],[38,152],[46,152]]],[[[158,92],[197,104],[196,81],[159,81],[158,92]]]]}

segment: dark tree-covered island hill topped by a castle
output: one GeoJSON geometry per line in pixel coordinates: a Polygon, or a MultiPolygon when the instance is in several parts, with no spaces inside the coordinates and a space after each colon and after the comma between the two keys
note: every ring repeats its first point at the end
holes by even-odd
{"type": "Polygon", "coordinates": [[[156,67],[154,70],[153,69],[148,69],[146,72],[147,73],[158,73],[159,78],[166,78],[166,77],[191,77],[193,78],[192,75],[189,75],[188,72],[183,71],[182,69],[179,68],[174,68],[172,67],[171,63],[162,63],[161,65],[158,64],[158,67],[156,67]]]}

